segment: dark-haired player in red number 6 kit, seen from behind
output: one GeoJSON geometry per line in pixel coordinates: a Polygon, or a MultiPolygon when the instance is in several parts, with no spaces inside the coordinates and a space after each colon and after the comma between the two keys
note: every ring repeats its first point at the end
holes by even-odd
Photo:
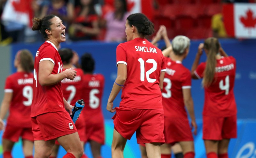
{"type": "MultiPolygon", "coordinates": [[[[101,110],[105,79],[102,74],[93,74],[94,60],[85,53],[81,57],[83,76],[84,122],[86,123],[86,140],[91,145],[93,158],[101,158],[100,149],[105,143],[104,118],[101,110]]],[[[81,119],[81,118],[79,118],[81,119]]]]}

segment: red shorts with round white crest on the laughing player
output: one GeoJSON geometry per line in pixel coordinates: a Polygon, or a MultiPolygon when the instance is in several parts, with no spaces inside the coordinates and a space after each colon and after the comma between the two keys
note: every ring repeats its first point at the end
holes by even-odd
{"type": "Polygon", "coordinates": [[[52,140],[77,132],[67,111],[49,112],[31,118],[35,140],[52,140]]]}

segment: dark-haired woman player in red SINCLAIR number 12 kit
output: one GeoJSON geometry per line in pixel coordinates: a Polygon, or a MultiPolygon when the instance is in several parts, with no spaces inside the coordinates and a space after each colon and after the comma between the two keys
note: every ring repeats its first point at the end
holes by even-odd
{"type": "Polygon", "coordinates": [[[162,106],[165,63],[162,51],[151,44],[154,25],[141,13],[129,15],[125,24],[127,42],[116,48],[117,78],[108,98],[107,110],[115,112],[112,158],[124,157],[127,139],[136,132],[137,143],[145,143],[149,158],[160,158],[164,143],[162,106]],[[113,101],[122,89],[122,101],[113,101]]]}

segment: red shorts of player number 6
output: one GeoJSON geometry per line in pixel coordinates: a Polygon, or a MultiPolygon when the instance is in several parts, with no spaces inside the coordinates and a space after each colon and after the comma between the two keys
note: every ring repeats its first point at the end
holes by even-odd
{"type": "Polygon", "coordinates": [[[89,117],[84,117],[86,124],[86,141],[96,141],[100,144],[105,144],[105,130],[104,130],[104,118],[100,112],[98,114],[92,114],[89,117]]]}

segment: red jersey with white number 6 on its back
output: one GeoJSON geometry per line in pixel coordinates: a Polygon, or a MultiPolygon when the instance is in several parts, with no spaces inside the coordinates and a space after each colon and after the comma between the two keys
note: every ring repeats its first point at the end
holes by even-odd
{"type": "Polygon", "coordinates": [[[84,116],[91,116],[92,113],[101,111],[102,94],[105,84],[105,78],[101,74],[84,74],[83,76],[83,98],[84,98],[84,116]]]}

